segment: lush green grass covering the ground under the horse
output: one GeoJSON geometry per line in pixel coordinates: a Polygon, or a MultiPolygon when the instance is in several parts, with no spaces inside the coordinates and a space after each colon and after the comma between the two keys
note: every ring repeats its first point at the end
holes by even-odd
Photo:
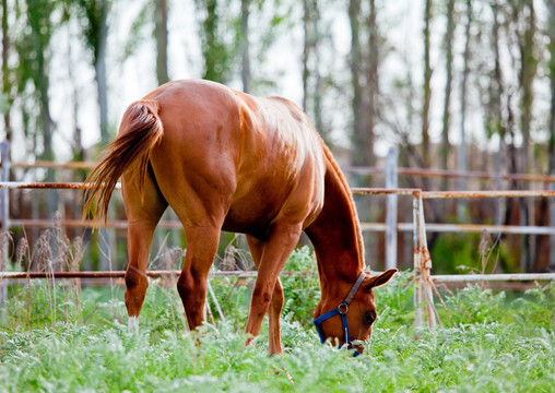
{"type": "MultiPolygon", "coordinates": [[[[288,270],[311,267],[306,250],[288,270]]],[[[364,355],[320,345],[316,277],[284,277],[283,356],[268,326],[245,347],[252,281],[211,281],[226,321],[184,327],[174,286],[153,282],[139,335],[127,333],[121,286],[36,281],[11,287],[0,333],[0,391],[47,392],[553,392],[555,284],[512,296],[468,287],[444,295],[444,327],[414,340],[409,274],[376,290],[379,319],[364,355]],[[55,306],[56,305],[56,306],[55,306]]],[[[167,284],[167,283],[165,283],[167,284]]]]}

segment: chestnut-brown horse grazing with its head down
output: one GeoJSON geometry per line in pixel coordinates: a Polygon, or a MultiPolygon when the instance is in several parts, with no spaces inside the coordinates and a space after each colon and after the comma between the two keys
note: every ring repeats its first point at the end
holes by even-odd
{"type": "Polygon", "coordinates": [[[205,81],[167,83],[125,112],[118,136],[85,181],[84,214],[106,221],[119,177],[129,222],[125,297],[130,330],[138,326],[149,285],[153,233],[169,205],[187,238],[177,289],[191,330],[203,323],[220,231],[244,233],[258,269],[246,333],[258,335],[268,312],[270,354],[282,353],[279,274],[304,230],[316,250],[320,278],[315,318],[340,309],[357,282],[350,312],[343,305],[341,319],[321,322],[321,338],[350,342],[344,317],[352,338],[369,336],[376,318],[373,288],[397,270],[373,277],[364,272],[362,234],[347,183],[293,103],[205,81]]]}

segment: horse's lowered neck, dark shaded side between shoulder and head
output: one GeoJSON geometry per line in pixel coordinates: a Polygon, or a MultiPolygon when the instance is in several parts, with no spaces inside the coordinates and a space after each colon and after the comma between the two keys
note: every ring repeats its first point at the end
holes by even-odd
{"type": "Polygon", "coordinates": [[[315,248],[322,290],[336,287],[338,281],[353,284],[364,269],[361,227],[349,186],[331,155],[322,211],[305,231],[315,248]]]}

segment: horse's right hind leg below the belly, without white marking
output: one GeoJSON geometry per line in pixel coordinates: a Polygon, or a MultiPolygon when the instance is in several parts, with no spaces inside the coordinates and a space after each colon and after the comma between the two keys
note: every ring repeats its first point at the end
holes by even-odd
{"type": "Polygon", "coordinates": [[[210,266],[214,262],[220,241],[220,227],[186,227],[187,252],[177,290],[181,297],[191,330],[204,321],[204,301],[210,266]]]}

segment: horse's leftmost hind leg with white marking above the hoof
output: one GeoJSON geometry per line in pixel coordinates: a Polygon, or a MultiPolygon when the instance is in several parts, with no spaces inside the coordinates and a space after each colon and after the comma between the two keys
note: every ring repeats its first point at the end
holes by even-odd
{"type": "Polygon", "coordinates": [[[144,184],[142,198],[138,177],[123,175],[123,203],[128,218],[128,254],[129,265],[126,271],[126,308],[129,315],[129,332],[139,330],[139,313],[149,287],[146,263],[154,235],[154,229],[167,207],[167,202],[160,192],[151,171],[144,184]]]}

